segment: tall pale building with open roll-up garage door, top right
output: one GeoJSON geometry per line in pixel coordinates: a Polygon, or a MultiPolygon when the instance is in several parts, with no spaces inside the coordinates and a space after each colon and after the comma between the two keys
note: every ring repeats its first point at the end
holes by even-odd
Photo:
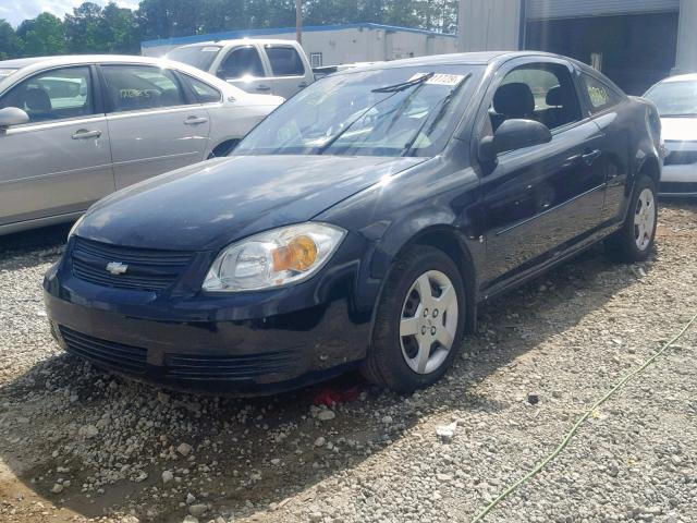
{"type": "Polygon", "coordinates": [[[461,51],[576,58],[629,94],[697,72],[697,0],[461,0],[461,51]]]}

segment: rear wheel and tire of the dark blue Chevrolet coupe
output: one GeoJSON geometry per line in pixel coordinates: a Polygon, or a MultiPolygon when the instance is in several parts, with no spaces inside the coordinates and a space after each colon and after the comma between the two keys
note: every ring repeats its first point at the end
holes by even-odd
{"type": "Polygon", "coordinates": [[[624,224],[606,243],[610,258],[621,263],[645,260],[653,247],[657,222],[656,183],[646,174],[639,174],[624,224]]]}

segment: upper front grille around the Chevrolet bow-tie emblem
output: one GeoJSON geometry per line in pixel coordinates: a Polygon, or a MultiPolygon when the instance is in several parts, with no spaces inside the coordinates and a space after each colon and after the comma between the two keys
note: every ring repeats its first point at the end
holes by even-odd
{"type": "Polygon", "coordinates": [[[73,276],[81,280],[115,289],[162,291],[182,275],[193,254],[122,247],[75,238],[71,256],[73,276]],[[109,272],[107,265],[114,262],[127,265],[125,272],[109,272]]]}

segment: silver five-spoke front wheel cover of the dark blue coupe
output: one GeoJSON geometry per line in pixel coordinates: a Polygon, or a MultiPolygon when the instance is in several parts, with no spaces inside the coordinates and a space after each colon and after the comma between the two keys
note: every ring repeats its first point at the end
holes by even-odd
{"type": "Polygon", "coordinates": [[[400,344],[404,361],[417,374],[437,370],[457,331],[457,294],[443,272],[429,270],[412,284],[402,305],[400,344]]]}

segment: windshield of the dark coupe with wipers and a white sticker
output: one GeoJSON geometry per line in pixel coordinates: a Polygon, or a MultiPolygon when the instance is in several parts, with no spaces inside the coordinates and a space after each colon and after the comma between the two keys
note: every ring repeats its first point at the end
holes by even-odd
{"type": "Polygon", "coordinates": [[[463,114],[469,65],[348,72],[291,98],[235,155],[435,156],[463,114]]]}

